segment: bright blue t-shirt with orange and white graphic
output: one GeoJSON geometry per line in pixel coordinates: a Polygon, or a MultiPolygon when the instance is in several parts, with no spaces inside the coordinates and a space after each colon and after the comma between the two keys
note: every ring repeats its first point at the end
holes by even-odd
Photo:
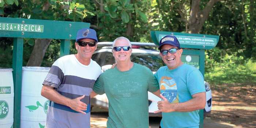
{"type": "MultiPolygon", "coordinates": [[[[161,94],[170,103],[183,103],[192,99],[192,95],[205,92],[204,78],[195,67],[182,64],[170,70],[161,67],[155,73],[161,94]]],[[[162,128],[199,128],[199,110],[192,112],[162,112],[162,128]]]]}

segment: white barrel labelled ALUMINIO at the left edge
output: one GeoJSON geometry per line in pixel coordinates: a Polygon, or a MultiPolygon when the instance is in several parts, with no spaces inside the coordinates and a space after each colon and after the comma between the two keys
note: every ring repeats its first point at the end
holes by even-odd
{"type": "Polygon", "coordinates": [[[12,128],[14,116],[14,84],[11,68],[0,68],[0,128],[12,128]]]}

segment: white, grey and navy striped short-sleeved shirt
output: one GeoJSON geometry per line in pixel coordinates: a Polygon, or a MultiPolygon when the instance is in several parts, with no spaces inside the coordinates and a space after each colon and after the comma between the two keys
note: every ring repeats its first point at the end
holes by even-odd
{"type": "Polygon", "coordinates": [[[74,99],[85,95],[80,101],[87,104],[86,114],[68,106],[49,102],[45,128],[90,128],[90,93],[101,67],[93,60],[89,65],[80,63],[74,54],[56,60],[43,84],[54,87],[61,95],[74,99]]]}

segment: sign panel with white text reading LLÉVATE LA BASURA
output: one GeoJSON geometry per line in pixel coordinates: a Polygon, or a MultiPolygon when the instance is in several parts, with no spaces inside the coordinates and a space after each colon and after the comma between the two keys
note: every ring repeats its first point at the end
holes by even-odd
{"type": "MultiPolygon", "coordinates": [[[[166,35],[159,35],[159,41],[166,35]]],[[[215,38],[205,38],[205,37],[188,37],[188,36],[180,36],[174,35],[177,37],[180,44],[185,45],[204,45],[204,46],[216,46],[217,39],[215,38]]]]}

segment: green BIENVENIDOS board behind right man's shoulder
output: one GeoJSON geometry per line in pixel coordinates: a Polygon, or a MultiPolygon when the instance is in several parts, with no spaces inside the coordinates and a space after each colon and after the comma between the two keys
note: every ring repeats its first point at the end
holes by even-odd
{"type": "Polygon", "coordinates": [[[195,55],[181,55],[181,61],[184,64],[192,65],[196,69],[199,69],[199,56],[195,55]]]}

